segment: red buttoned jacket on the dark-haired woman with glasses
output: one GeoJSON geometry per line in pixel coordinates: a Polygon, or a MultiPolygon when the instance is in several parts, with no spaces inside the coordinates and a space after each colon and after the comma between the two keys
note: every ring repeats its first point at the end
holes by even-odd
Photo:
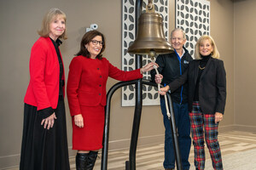
{"type": "Polygon", "coordinates": [[[81,114],[80,105],[106,105],[106,84],[108,77],[119,81],[143,78],[139,69],[121,71],[111,65],[108,59],[74,57],[69,65],[67,99],[71,116],[81,114]]]}

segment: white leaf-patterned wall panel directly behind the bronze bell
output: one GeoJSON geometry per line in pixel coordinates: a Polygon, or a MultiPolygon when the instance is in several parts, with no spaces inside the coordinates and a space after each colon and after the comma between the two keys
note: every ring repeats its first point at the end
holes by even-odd
{"type": "MultiPolygon", "coordinates": [[[[127,49],[134,42],[135,35],[135,0],[122,1],[122,69],[132,71],[135,69],[135,55],[128,54],[127,49]]],[[[155,13],[162,14],[164,19],[164,31],[166,39],[168,37],[168,0],[154,0],[155,13]]],[[[143,0],[143,12],[145,12],[148,0],[143,0]]],[[[143,56],[143,65],[150,62],[150,58],[143,56]]],[[[150,73],[145,73],[143,78],[150,79],[150,73]]],[[[122,88],[122,106],[135,105],[135,86],[122,88]]],[[[143,85],[143,105],[160,105],[157,88],[143,85]]]]}

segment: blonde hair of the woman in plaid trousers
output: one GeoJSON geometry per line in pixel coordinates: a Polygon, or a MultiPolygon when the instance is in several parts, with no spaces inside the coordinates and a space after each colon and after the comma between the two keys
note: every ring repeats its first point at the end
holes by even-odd
{"type": "Polygon", "coordinates": [[[213,48],[212,58],[218,59],[219,54],[218,54],[218,48],[216,46],[216,43],[214,42],[213,38],[208,35],[203,35],[197,40],[197,42],[195,44],[195,59],[201,59],[201,54],[199,52],[199,48],[200,48],[201,43],[205,40],[209,40],[209,42],[212,44],[212,48],[213,48]]]}

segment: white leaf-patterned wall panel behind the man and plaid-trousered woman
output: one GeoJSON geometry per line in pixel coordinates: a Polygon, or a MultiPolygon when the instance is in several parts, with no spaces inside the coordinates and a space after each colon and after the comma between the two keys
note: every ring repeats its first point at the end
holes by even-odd
{"type": "Polygon", "coordinates": [[[210,35],[210,2],[176,0],[176,27],[186,33],[185,48],[194,57],[195,43],[202,35],[210,35]]]}

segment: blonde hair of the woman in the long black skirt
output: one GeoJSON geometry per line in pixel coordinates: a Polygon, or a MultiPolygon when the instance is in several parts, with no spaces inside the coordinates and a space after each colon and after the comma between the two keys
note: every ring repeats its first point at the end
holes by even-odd
{"type": "MultiPolygon", "coordinates": [[[[55,20],[57,17],[61,17],[63,20],[65,20],[65,23],[66,23],[66,14],[63,11],[61,11],[61,9],[59,9],[59,8],[50,8],[48,13],[46,13],[44,15],[41,30],[38,31],[39,36],[49,37],[49,24],[53,20],[55,20]]],[[[60,38],[67,39],[66,29],[63,32],[63,34],[60,36],[60,38]]]]}

